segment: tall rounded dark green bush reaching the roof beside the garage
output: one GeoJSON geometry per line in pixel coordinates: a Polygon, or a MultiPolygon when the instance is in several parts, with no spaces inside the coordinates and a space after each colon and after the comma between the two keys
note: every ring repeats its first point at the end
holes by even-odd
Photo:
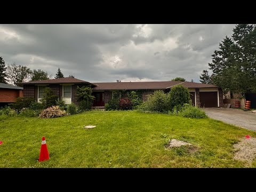
{"type": "Polygon", "coordinates": [[[177,107],[180,110],[184,103],[192,103],[189,96],[189,89],[182,85],[175,85],[168,93],[169,105],[171,108],[177,107]]]}

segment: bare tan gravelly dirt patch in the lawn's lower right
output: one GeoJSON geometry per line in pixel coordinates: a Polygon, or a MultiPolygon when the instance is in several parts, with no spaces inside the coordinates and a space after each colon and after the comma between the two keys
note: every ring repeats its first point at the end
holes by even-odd
{"type": "Polygon", "coordinates": [[[234,148],[237,149],[234,159],[251,164],[256,157],[256,138],[243,138],[234,145],[234,148]]]}

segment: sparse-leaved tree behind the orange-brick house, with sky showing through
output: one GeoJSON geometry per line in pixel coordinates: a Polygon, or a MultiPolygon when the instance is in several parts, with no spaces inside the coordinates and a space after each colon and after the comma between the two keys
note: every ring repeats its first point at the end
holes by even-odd
{"type": "Polygon", "coordinates": [[[18,83],[28,81],[32,71],[26,66],[16,65],[14,62],[7,66],[6,73],[11,79],[11,83],[18,85],[18,83]]]}

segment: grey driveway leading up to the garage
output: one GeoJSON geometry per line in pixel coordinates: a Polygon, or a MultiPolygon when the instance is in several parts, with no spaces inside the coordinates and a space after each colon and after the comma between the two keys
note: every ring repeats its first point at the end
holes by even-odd
{"type": "Polygon", "coordinates": [[[213,119],[256,131],[256,113],[239,109],[202,108],[213,119]]]}

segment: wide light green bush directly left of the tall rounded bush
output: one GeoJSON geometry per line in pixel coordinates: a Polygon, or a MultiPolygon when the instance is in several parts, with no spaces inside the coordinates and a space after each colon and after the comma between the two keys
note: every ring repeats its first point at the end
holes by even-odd
{"type": "Polygon", "coordinates": [[[170,106],[167,100],[167,95],[164,91],[160,90],[149,95],[148,100],[139,108],[146,111],[166,113],[170,109],[170,106]]]}

